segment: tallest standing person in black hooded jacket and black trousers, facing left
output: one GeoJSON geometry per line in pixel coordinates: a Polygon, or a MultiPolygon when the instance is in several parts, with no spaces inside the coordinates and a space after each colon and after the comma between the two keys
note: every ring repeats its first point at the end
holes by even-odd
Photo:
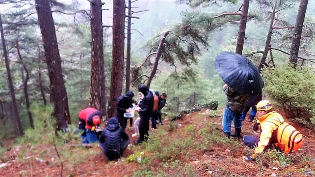
{"type": "Polygon", "coordinates": [[[148,136],[148,132],[150,129],[150,117],[153,113],[153,94],[144,84],[140,84],[138,90],[143,93],[142,103],[140,105],[140,110],[138,111],[140,119],[139,124],[139,134],[140,137],[137,141],[134,141],[134,144],[139,144],[144,141],[144,135],[148,136]]]}

